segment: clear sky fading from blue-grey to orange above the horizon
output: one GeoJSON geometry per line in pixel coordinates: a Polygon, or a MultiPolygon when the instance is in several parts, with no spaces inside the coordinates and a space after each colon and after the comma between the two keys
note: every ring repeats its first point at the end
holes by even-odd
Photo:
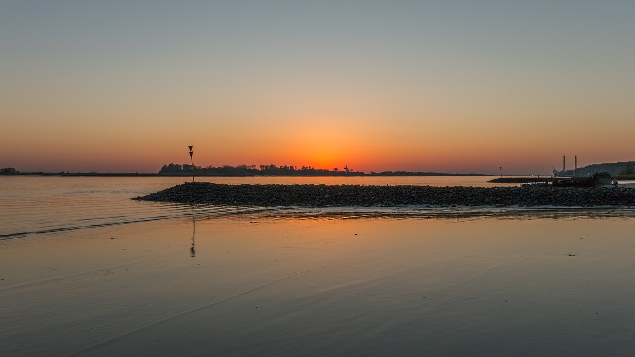
{"type": "Polygon", "coordinates": [[[0,167],[635,160],[635,1],[0,0],[0,167]]]}

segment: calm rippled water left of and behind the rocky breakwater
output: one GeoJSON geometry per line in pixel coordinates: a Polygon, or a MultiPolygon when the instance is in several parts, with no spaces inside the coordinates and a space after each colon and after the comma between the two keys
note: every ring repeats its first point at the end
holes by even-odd
{"type": "MultiPolygon", "coordinates": [[[[474,177],[201,177],[218,184],[353,184],[481,186],[474,177]]],[[[203,213],[236,213],[262,208],[166,205],[130,198],[182,184],[187,177],[0,176],[0,238],[31,232],[124,224],[203,213]]]]}

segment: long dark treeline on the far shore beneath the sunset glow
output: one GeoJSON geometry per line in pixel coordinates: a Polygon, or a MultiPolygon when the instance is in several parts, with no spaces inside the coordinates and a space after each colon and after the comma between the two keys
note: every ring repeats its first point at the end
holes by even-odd
{"type": "MultiPolygon", "coordinates": [[[[191,174],[192,165],[189,164],[167,164],[163,165],[159,173],[163,174],[191,174]]],[[[370,172],[354,171],[347,167],[343,170],[333,168],[313,168],[312,166],[277,166],[271,165],[223,165],[223,166],[194,166],[195,175],[208,176],[255,176],[255,175],[276,175],[276,176],[486,176],[481,173],[439,173],[439,172],[408,172],[408,171],[384,171],[370,172]]]]}

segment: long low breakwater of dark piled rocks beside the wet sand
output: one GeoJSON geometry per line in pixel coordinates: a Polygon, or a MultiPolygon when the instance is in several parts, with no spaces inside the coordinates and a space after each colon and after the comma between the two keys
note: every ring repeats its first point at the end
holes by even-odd
{"type": "Polygon", "coordinates": [[[140,201],[240,206],[635,206],[635,189],[185,183],[140,201]]]}

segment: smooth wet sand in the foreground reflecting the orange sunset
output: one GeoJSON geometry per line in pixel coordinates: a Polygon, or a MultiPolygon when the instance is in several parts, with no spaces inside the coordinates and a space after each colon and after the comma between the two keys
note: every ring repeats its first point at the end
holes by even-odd
{"type": "Polygon", "coordinates": [[[3,241],[0,355],[628,355],[633,223],[240,215],[3,241]]]}

